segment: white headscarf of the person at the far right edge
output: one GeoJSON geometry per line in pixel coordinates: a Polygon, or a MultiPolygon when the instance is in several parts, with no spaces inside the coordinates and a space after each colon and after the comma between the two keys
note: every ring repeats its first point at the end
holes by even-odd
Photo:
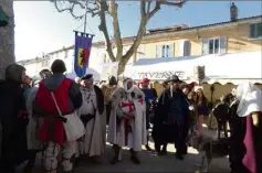
{"type": "Polygon", "coordinates": [[[262,91],[251,83],[238,86],[237,99],[240,101],[237,111],[239,117],[247,117],[253,111],[262,111],[262,91]]]}

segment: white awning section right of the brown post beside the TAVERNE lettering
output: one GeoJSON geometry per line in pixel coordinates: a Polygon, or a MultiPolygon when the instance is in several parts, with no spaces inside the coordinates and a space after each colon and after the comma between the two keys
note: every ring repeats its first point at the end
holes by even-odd
{"type": "MultiPolygon", "coordinates": [[[[205,56],[203,56],[205,57],[205,56]]],[[[203,63],[206,78],[201,83],[262,84],[262,53],[244,52],[208,56],[203,63]]]]}

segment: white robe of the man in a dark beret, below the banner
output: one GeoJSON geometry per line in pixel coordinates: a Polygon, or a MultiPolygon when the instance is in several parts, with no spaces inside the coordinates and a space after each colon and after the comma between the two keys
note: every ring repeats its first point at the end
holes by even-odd
{"type": "MultiPolygon", "coordinates": [[[[85,89],[81,89],[83,97],[83,105],[78,109],[77,113],[87,115],[94,113],[96,109],[96,95],[95,91],[91,91],[90,102],[87,101],[88,91],[85,89]],[[91,101],[93,100],[93,104],[91,101]]],[[[88,154],[88,156],[101,155],[106,147],[105,132],[106,132],[106,122],[105,115],[102,115],[96,111],[95,118],[90,120],[85,127],[85,136],[83,137],[83,141],[78,142],[78,154],[88,154]]]]}

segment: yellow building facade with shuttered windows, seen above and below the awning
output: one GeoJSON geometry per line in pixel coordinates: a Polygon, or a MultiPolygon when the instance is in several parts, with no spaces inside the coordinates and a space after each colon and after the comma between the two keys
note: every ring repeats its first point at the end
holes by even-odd
{"type": "MultiPolygon", "coordinates": [[[[214,23],[186,29],[157,29],[144,37],[135,61],[138,58],[176,58],[206,54],[262,52],[262,15],[239,19],[235,22],[214,23]]],[[[213,101],[237,87],[233,84],[213,84],[213,101]]],[[[205,95],[211,99],[211,85],[202,84],[205,95]]],[[[259,85],[262,88],[261,85],[259,85]]],[[[155,83],[158,94],[164,89],[155,83]]]]}

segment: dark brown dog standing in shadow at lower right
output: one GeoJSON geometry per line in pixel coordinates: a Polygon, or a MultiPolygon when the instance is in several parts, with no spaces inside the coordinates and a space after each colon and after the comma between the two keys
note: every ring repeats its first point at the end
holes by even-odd
{"type": "Polygon", "coordinates": [[[201,154],[200,171],[208,172],[213,158],[223,158],[229,154],[228,139],[213,140],[211,137],[191,133],[188,145],[201,154]],[[207,162],[207,166],[205,166],[207,162]]]}

